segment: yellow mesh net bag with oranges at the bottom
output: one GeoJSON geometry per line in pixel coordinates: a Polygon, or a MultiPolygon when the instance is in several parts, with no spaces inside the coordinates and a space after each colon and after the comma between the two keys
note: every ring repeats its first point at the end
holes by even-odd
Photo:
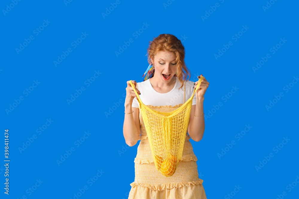
{"type": "Polygon", "coordinates": [[[203,76],[200,76],[192,96],[181,107],[171,112],[160,112],[143,104],[130,81],[138,98],[139,111],[144,121],[155,167],[166,177],[176,172],[182,159],[192,100],[202,78],[203,76]]]}

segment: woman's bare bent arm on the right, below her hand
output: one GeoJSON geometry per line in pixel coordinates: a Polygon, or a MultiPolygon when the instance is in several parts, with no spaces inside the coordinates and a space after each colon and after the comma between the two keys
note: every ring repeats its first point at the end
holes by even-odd
{"type": "Polygon", "coordinates": [[[202,139],[205,131],[205,118],[204,118],[204,98],[196,98],[196,105],[192,105],[190,118],[188,123],[188,133],[190,138],[196,142],[199,142],[202,139]],[[203,115],[200,117],[195,117],[203,115]]]}

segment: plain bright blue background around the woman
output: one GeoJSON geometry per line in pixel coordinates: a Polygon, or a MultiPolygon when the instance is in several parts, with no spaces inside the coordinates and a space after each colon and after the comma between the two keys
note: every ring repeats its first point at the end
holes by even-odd
{"type": "Polygon", "coordinates": [[[123,137],[126,81],[143,81],[149,41],[162,33],[183,42],[189,80],[197,81],[202,74],[210,83],[204,101],[210,118],[205,119],[203,139],[190,140],[207,198],[228,198],[238,185],[242,188],[236,199],[277,198],[284,191],[285,198],[298,198],[299,184],[287,189],[299,176],[299,84],[292,84],[299,75],[298,1],[273,1],[269,9],[263,8],[267,1],[236,0],[13,2],[0,4],[0,153],[6,159],[4,129],[9,129],[10,159],[9,196],[4,194],[1,160],[1,198],[74,198],[84,186],[88,189],[79,198],[128,198],[139,141],[129,147],[123,137]],[[213,7],[216,3],[219,7],[213,7]],[[111,4],[117,6],[103,16],[111,4]],[[143,23],[148,27],[136,36],[143,23]],[[248,27],[244,33],[242,26],[248,27]],[[85,38],[75,47],[72,42],[82,33],[85,38]],[[238,33],[242,36],[236,41],[232,36],[238,33]],[[30,36],[34,39],[16,50],[30,36]],[[133,42],[116,55],[130,38],[133,42]],[[283,38],[285,43],[272,54],[271,48],[283,38]],[[233,45],[216,59],[230,41],[233,45]],[[71,52],[55,64],[68,48],[71,52]],[[271,58],[254,70],[268,53],[271,58]],[[91,78],[95,71],[100,75],[91,78]],[[238,90],[231,95],[232,87],[238,90]],[[280,92],[280,100],[267,109],[280,92]],[[20,96],[23,100],[17,104],[20,96]],[[213,109],[219,102],[222,106],[213,109]],[[53,121],[49,126],[47,119],[53,121]],[[235,135],[245,125],[252,128],[238,140],[235,135]],[[44,127],[40,135],[39,127],[44,127]],[[76,144],[85,132],[89,136],[76,144]],[[276,153],[273,148],[284,138],[289,141],[276,153]],[[225,148],[231,141],[236,144],[225,148]],[[71,147],[75,150],[65,155],[71,147]],[[222,149],[229,150],[224,154],[222,149]],[[270,153],[274,157],[256,169],[270,153]],[[59,164],[61,155],[67,158],[59,164]],[[98,170],[102,175],[91,184],[98,170]],[[28,191],[39,179],[40,186],[28,191]]]}

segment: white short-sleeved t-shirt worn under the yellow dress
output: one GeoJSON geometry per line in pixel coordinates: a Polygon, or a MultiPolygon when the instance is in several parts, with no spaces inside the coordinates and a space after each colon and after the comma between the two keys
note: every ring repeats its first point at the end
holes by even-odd
{"type": "MultiPolygon", "coordinates": [[[[193,94],[193,81],[186,81],[186,93],[185,93],[185,102],[191,97],[193,94]]],[[[173,89],[167,93],[159,93],[154,90],[152,84],[149,79],[142,82],[137,82],[138,90],[141,92],[139,95],[141,101],[145,105],[152,106],[164,106],[171,105],[175,106],[177,104],[184,104],[184,86],[179,89],[181,86],[181,82],[176,77],[176,84],[173,89]]],[[[126,104],[126,103],[125,103],[126,104]]],[[[192,105],[196,104],[196,93],[194,94],[192,105]]],[[[138,108],[139,104],[136,98],[133,99],[132,107],[138,108]]]]}

